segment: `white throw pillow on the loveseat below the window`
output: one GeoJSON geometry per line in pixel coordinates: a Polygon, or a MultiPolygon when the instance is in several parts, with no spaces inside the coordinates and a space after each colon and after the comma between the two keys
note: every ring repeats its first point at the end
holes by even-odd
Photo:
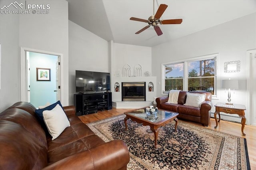
{"type": "Polygon", "coordinates": [[[199,94],[199,93],[188,93],[187,92],[187,99],[184,105],[186,106],[194,106],[200,107],[200,104],[205,101],[206,94],[199,94]]]}

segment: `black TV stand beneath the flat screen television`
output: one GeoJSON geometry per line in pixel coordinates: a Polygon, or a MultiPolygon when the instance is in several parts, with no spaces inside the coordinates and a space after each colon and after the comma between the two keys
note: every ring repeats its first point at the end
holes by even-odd
{"type": "Polygon", "coordinates": [[[112,109],[112,93],[74,94],[74,106],[77,116],[97,113],[98,110],[110,110],[112,109]]]}

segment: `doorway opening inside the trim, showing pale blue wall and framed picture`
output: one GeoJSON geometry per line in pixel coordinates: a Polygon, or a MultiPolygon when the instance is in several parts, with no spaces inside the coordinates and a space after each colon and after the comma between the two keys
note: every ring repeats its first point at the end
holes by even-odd
{"type": "Polygon", "coordinates": [[[26,51],[28,102],[39,107],[59,99],[59,56],[26,51]],[[41,78],[46,75],[46,78],[41,78]]]}

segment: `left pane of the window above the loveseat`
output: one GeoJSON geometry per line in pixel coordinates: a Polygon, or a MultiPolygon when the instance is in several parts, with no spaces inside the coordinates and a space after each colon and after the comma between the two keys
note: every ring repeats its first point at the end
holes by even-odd
{"type": "Polygon", "coordinates": [[[165,65],[165,91],[182,90],[184,63],[165,65]]]}

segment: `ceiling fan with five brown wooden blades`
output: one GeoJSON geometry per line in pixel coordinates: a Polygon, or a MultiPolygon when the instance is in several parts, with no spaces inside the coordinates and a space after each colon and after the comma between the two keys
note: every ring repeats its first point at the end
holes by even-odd
{"type": "Polygon", "coordinates": [[[135,34],[140,34],[142,31],[148,29],[150,26],[153,26],[154,30],[156,31],[156,34],[158,36],[161,36],[163,33],[158,24],[161,24],[161,25],[162,24],[181,24],[182,19],[160,20],[162,14],[164,13],[164,11],[166,10],[167,7],[168,7],[168,5],[166,5],[166,4],[160,4],[158,10],[156,11],[156,14],[154,14],[154,0],[153,0],[153,15],[150,16],[148,18],[148,20],[131,17],[130,20],[148,23],[148,26],[145,26],[144,28],[142,28],[141,30],[136,32],[135,34]]]}

